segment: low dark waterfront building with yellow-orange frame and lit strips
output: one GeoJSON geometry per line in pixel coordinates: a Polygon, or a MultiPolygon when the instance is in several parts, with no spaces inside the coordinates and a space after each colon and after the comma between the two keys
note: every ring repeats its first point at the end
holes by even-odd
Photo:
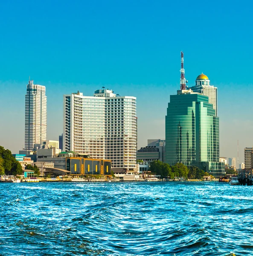
{"type": "Polygon", "coordinates": [[[71,175],[111,175],[111,160],[66,157],[66,170],[71,175]]]}

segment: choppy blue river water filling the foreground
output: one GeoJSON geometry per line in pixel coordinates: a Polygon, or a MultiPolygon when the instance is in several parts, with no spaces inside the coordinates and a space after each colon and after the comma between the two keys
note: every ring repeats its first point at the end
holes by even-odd
{"type": "Polygon", "coordinates": [[[0,255],[253,255],[253,186],[1,183],[0,255]]]}

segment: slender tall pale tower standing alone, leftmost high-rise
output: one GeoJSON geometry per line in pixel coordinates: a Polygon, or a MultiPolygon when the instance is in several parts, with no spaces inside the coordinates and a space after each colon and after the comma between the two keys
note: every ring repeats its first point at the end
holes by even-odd
{"type": "Polygon", "coordinates": [[[47,140],[46,87],[29,80],[25,103],[25,149],[36,150],[47,140]]]}

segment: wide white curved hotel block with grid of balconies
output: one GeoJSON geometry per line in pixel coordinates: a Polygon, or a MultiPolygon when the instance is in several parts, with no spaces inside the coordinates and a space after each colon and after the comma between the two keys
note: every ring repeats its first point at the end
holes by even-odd
{"type": "Polygon", "coordinates": [[[113,168],[136,166],[136,98],[112,90],[93,96],[64,95],[63,151],[112,160],[113,168]]]}

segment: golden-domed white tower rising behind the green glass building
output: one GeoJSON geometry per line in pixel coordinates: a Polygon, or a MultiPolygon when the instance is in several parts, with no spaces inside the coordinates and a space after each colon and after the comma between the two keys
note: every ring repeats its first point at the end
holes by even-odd
{"type": "Polygon", "coordinates": [[[218,116],[217,108],[217,87],[210,85],[209,78],[203,73],[199,75],[195,80],[195,86],[189,87],[195,93],[201,93],[205,96],[208,96],[209,103],[212,104],[215,109],[216,116],[218,116]]]}

